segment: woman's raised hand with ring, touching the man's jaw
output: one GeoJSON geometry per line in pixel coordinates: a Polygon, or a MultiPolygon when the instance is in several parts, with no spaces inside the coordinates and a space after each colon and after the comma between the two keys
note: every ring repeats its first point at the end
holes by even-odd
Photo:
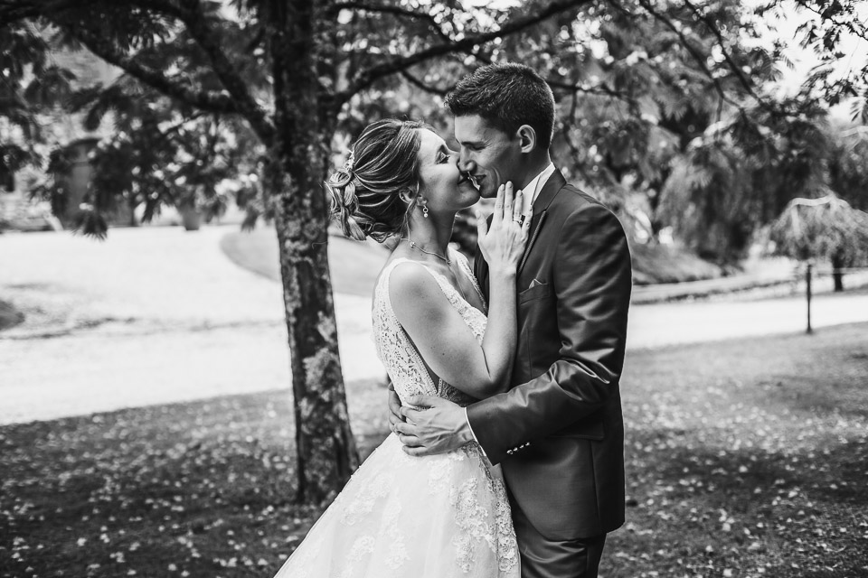
{"type": "Polygon", "coordinates": [[[500,185],[490,228],[486,219],[476,213],[479,250],[492,273],[514,274],[524,254],[531,219],[525,218],[522,223],[522,196],[522,191],[513,196],[512,182],[500,185]]]}

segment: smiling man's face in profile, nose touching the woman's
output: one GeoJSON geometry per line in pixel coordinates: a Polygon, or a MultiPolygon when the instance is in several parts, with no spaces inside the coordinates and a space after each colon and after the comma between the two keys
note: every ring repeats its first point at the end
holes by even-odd
{"type": "Polygon", "coordinates": [[[522,186],[521,145],[518,135],[507,135],[478,115],[455,117],[458,168],[467,172],[484,199],[497,196],[507,181],[522,186]]]}

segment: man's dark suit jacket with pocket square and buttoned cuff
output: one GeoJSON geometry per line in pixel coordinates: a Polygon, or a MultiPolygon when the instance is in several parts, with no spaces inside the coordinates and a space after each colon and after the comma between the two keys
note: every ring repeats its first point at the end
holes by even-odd
{"type": "MultiPolygon", "coordinates": [[[[488,266],[476,257],[488,294],[488,266]]],[[[467,407],[514,503],[542,536],[624,523],[624,363],[632,275],[618,219],[555,171],[533,203],[511,389],[467,407]],[[533,286],[532,286],[533,285],[533,286]]]]}

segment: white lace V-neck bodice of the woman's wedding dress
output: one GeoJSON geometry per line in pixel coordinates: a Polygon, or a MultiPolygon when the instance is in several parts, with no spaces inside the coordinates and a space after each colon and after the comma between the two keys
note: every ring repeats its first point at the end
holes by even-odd
{"type": "MultiPolygon", "coordinates": [[[[476,277],[470,270],[470,265],[467,263],[467,257],[458,251],[449,250],[449,256],[452,260],[458,263],[461,271],[467,275],[476,289],[476,294],[485,303],[482,292],[479,290],[479,285],[476,283],[476,277]]],[[[382,270],[376,288],[373,292],[373,340],[377,350],[377,356],[385,366],[389,373],[389,378],[395,387],[395,392],[401,398],[401,403],[406,404],[410,396],[426,395],[440,396],[450,401],[454,401],[460,406],[467,406],[476,399],[468,396],[464,392],[450,386],[443,379],[438,380],[435,386],[431,379],[428,369],[422,362],[419,351],[410,341],[410,336],[403,330],[398,318],[395,317],[392,309],[392,302],[389,298],[389,277],[392,275],[392,270],[395,266],[404,262],[418,263],[407,258],[397,258],[389,263],[382,270]]],[[[467,303],[458,289],[450,284],[447,278],[440,275],[428,266],[420,263],[434,277],[440,289],[446,294],[449,303],[455,307],[461,318],[467,323],[467,327],[476,336],[478,342],[482,342],[482,338],[486,333],[486,314],[480,312],[476,307],[467,303]]]]}

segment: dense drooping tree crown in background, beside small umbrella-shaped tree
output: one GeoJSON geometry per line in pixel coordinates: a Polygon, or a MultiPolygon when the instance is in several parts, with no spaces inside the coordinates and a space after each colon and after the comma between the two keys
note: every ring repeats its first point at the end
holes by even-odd
{"type": "Polygon", "coordinates": [[[700,256],[734,263],[788,200],[824,185],[829,155],[821,110],[794,117],[740,111],[675,158],[662,213],[700,256]]]}

